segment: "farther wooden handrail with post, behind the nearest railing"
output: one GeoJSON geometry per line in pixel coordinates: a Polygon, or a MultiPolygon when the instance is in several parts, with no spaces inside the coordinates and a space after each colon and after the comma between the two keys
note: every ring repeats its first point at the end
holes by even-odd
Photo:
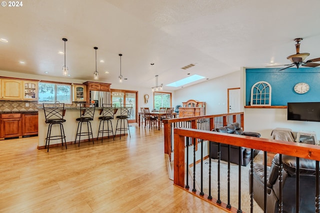
{"type": "Polygon", "coordinates": [[[226,126],[233,122],[238,122],[242,130],[244,130],[244,116],[243,112],[237,112],[237,113],[226,113],[226,114],[218,114],[218,115],[202,115],[202,116],[194,116],[194,117],[184,117],[184,118],[172,118],[172,119],[163,119],[163,128],[164,128],[164,153],[168,154],[169,159],[171,161],[171,136],[173,133],[171,133],[171,126],[179,123],[179,122],[190,122],[190,127],[192,129],[198,129],[196,122],[201,119],[208,119],[209,120],[209,130],[212,130],[213,128],[218,128],[222,126],[226,126]],[[222,122],[219,123],[217,126],[214,122],[215,118],[221,118],[222,122]],[[228,119],[231,118],[231,119],[228,119]]]}

